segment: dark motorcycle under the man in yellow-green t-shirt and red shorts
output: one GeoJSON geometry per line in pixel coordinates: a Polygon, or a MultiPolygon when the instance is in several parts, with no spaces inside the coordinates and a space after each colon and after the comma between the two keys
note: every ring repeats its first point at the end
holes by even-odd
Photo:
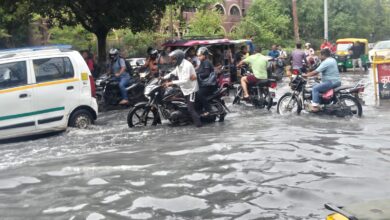
{"type": "MultiPolygon", "coordinates": [[[[247,75],[249,74],[246,71],[247,75]]],[[[248,92],[250,96],[249,103],[251,103],[256,108],[267,108],[270,110],[272,106],[276,105],[273,102],[275,98],[275,88],[277,86],[276,79],[266,79],[260,80],[256,85],[248,85],[248,92]]],[[[233,100],[233,105],[240,104],[243,97],[243,89],[242,86],[238,86],[236,95],[233,100]]]]}

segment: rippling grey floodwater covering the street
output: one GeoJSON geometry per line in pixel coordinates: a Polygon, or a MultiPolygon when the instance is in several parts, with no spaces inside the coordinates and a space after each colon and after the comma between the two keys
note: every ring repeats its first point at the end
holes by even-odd
{"type": "Polygon", "coordinates": [[[0,219],[324,219],[327,202],[390,198],[390,111],[372,91],[361,119],[230,106],[201,129],[129,129],[113,111],[2,144],[0,219]]]}

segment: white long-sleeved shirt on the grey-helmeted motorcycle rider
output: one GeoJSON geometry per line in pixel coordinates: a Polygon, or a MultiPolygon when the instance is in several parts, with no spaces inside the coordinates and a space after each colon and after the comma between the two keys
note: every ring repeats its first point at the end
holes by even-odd
{"type": "Polygon", "coordinates": [[[183,95],[187,96],[199,90],[198,80],[191,80],[191,75],[196,76],[196,72],[190,61],[184,59],[175,70],[164,76],[164,79],[169,79],[172,75],[179,78],[179,80],[173,80],[172,83],[180,86],[183,95]]]}

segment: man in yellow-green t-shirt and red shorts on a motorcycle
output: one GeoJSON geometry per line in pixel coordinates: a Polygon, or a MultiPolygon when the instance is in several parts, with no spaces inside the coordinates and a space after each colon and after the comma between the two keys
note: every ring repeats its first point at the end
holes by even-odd
{"type": "Polygon", "coordinates": [[[244,92],[243,100],[249,100],[248,85],[256,85],[260,80],[268,78],[267,66],[268,58],[261,54],[261,48],[256,48],[256,53],[242,60],[237,67],[244,63],[249,64],[253,70],[253,75],[247,75],[241,78],[241,86],[244,92]]]}

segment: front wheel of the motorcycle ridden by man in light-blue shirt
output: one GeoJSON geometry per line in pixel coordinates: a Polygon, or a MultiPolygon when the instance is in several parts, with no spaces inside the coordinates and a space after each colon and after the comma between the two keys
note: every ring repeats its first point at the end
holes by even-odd
{"type": "Polygon", "coordinates": [[[277,112],[280,115],[299,115],[302,111],[302,103],[297,97],[292,96],[291,93],[284,94],[280,97],[277,105],[277,112]]]}

